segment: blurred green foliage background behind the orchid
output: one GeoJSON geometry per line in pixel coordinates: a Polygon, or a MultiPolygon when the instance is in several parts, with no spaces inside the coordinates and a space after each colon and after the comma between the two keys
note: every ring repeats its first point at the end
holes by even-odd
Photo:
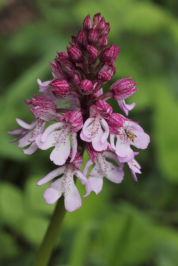
{"type": "Polygon", "coordinates": [[[32,264],[55,207],[42,197],[48,184],[36,186],[56,168],[50,150],[27,156],[6,131],[19,128],[15,118],[33,120],[24,99],[38,94],[37,78],[52,79],[48,61],[98,12],[110,22],[109,45],[120,47],[104,91],[117,79],[138,81],[129,118],[151,142],[136,156],[137,183],[125,165],[121,184],[104,178],[102,192],[66,213],[50,266],[178,265],[177,0],[1,0],[0,266],[32,264]]]}

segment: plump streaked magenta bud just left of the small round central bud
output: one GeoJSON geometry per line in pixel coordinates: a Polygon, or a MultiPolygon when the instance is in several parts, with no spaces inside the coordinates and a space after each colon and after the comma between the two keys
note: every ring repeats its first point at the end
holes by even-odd
{"type": "Polygon", "coordinates": [[[66,98],[70,95],[72,86],[66,81],[55,79],[49,83],[54,89],[50,89],[57,99],[66,98]]]}

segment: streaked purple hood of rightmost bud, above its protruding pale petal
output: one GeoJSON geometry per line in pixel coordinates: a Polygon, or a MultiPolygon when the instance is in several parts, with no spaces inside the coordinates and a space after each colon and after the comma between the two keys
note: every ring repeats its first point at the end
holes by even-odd
{"type": "Polygon", "coordinates": [[[128,99],[138,89],[135,89],[137,82],[131,81],[132,77],[127,79],[119,79],[110,87],[109,91],[113,93],[115,100],[128,99]]]}

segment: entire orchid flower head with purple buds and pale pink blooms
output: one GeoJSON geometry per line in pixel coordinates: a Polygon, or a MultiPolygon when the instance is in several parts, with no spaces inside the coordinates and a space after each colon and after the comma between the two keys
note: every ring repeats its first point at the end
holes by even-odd
{"type": "Polygon", "coordinates": [[[106,48],[109,23],[97,13],[93,24],[88,15],[83,26],[77,36],[72,35],[67,52],[57,52],[55,62],[50,63],[53,80],[41,82],[38,79],[39,91],[43,95],[34,94],[32,100],[25,101],[35,120],[27,124],[16,119],[22,128],[8,132],[21,134],[13,140],[18,140],[18,147],[24,148],[30,144],[23,150],[25,154],[32,154],[38,148],[46,150],[54,147],[50,160],[59,167],[38,181],[37,185],[63,174],[51,183],[43,196],[47,204],[53,204],[64,195],[65,208],[69,212],[81,206],[74,175],[86,187],[87,193],[83,197],[88,196],[90,191],[98,194],[102,190],[103,177],[121,183],[124,162],[137,181],[135,173],[141,173],[141,167],[134,159],[138,152],[130,146],[145,149],[149,143],[149,136],[138,123],[113,113],[106,102],[113,97],[128,116],[135,103],[125,104],[125,99],[138,90],[135,88],[136,82],[131,81],[131,77],[120,79],[110,87],[109,92],[102,91],[103,85],[115,74],[114,62],[119,53],[119,47],[114,44],[106,48]],[[54,123],[47,126],[46,123],[51,121],[54,123]],[[89,160],[81,172],[85,149],[89,160]],[[115,161],[117,166],[106,158],[115,161]],[[95,166],[89,172],[92,164],[95,166]]]}

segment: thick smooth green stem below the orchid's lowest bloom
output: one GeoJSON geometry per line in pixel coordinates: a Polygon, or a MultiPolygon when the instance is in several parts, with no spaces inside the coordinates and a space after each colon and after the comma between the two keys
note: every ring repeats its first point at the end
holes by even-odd
{"type": "Polygon", "coordinates": [[[64,197],[60,197],[51,221],[38,252],[37,258],[33,266],[47,266],[53,251],[56,239],[59,235],[61,224],[65,215],[64,197]]]}

